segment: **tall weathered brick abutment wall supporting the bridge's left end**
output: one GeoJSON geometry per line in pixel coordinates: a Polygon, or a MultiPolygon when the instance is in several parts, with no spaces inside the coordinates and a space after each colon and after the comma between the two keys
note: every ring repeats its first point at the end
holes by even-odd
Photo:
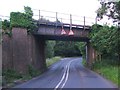
{"type": "Polygon", "coordinates": [[[24,74],[27,73],[29,64],[38,70],[44,70],[44,45],[44,40],[28,35],[26,29],[13,28],[12,37],[3,35],[3,70],[14,69],[24,74]]]}

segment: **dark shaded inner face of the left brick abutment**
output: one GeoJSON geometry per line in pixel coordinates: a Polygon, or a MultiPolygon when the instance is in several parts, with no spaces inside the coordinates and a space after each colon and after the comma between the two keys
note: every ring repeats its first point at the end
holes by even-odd
{"type": "Polygon", "coordinates": [[[33,65],[36,69],[41,70],[42,72],[46,69],[46,60],[45,60],[45,40],[35,37],[34,48],[34,62],[33,65]]]}

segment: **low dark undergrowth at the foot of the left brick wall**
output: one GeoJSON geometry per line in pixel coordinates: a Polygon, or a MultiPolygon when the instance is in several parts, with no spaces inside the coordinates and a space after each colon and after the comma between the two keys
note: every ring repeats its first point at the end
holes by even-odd
{"type": "Polygon", "coordinates": [[[28,65],[28,71],[26,74],[21,74],[13,69],[3,70],[2,76],[2,85],[5,87],[11,87],[16,82],[24,82],[30,80],[35,76],[40,75],[41,72],[36,70],[32,65],[28,65]]]}

